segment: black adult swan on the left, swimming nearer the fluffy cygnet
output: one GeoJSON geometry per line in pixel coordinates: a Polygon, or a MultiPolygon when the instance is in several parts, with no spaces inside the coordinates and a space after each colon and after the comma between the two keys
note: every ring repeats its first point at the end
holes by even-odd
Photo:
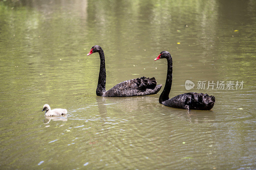
{"type": "Polygon", "coordinates": [[[100,46],[93,46],[91,51],[87,54],[99,53],[100,55],[100,73],[98,86],[96,89],[97,96],[105,97],[130,97],[156,94],[161,89],[162,85],[156,85],[156,79],[153,78],[135,78],[132,80],[123,81],[108,91],[106,91],[106,69],[105,69],[105,55],[100,46]]]}

